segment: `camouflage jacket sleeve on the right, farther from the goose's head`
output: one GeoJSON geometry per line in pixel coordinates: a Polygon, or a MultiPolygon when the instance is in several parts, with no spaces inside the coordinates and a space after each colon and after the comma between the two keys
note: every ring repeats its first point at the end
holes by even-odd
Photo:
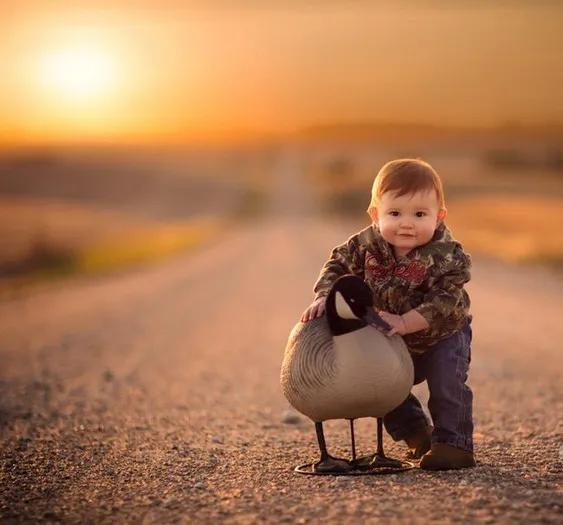
{"type": "Polygon", "coordinates": [[[463,285],[471,278],[471,257],[458,245],[452,255],[435,262],[429,291],[415,310],[437,335],[448,326],[458,326],[467,316],[469,296],[463,285]]]}

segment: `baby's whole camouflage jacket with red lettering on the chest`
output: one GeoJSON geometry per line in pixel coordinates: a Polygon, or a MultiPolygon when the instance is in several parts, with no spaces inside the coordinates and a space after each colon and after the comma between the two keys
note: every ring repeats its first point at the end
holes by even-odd
{"type": "Polygon", "coordinates": [[[315,284],[315,299],[328,295],[341,275],[358,275],[373,291],[377,309],[393,314],[415,309],[428,321],[426,330],[404,336],[411,352],[424,353],[471,319],[463,288],[470,267],[471,257],[443,223],[430,242],[401,257],[372,224],[332,250],[315,284]]]}

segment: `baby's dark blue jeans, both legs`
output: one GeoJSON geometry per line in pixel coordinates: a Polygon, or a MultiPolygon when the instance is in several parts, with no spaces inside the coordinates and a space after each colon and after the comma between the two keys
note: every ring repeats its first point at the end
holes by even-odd
{"type": "MultiPolygon", "coordinates": [[[[465,384],[471,361],[470,322],[452,336],[430,347],[422,355],[412,354],[414,383],[426,379],[428,410],[434,430],[432,443],[446,443],[473,450],[473,393],[465,384]]],[[[395,441],[428,426],[420,401],[411,393],[384,418],[385,429],[395,441]]]]}

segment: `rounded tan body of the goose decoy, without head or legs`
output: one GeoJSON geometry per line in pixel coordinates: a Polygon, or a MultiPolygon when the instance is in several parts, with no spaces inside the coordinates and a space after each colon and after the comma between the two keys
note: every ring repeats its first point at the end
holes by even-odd
{"type": "Polygon", "coordinates": [[[371,325],[333,336],[326,316],[294,327],[281,372],[289,403],[315,422],[383,417],[407,398],[413,380],[400,336],[371,325]]]}

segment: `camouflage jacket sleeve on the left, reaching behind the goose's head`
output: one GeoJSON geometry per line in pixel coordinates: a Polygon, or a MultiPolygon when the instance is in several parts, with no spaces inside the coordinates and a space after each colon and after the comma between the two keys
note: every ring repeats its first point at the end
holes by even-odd
{"type": "Polygon", "coordinates": [[[313,288],[315,300],[326,297],[334,281],[342,275],[353,274],[364,278],[364,256],[366,244],[373,235],[371,230],[371,227],[362,230],[332,250],[313,288]]]}

